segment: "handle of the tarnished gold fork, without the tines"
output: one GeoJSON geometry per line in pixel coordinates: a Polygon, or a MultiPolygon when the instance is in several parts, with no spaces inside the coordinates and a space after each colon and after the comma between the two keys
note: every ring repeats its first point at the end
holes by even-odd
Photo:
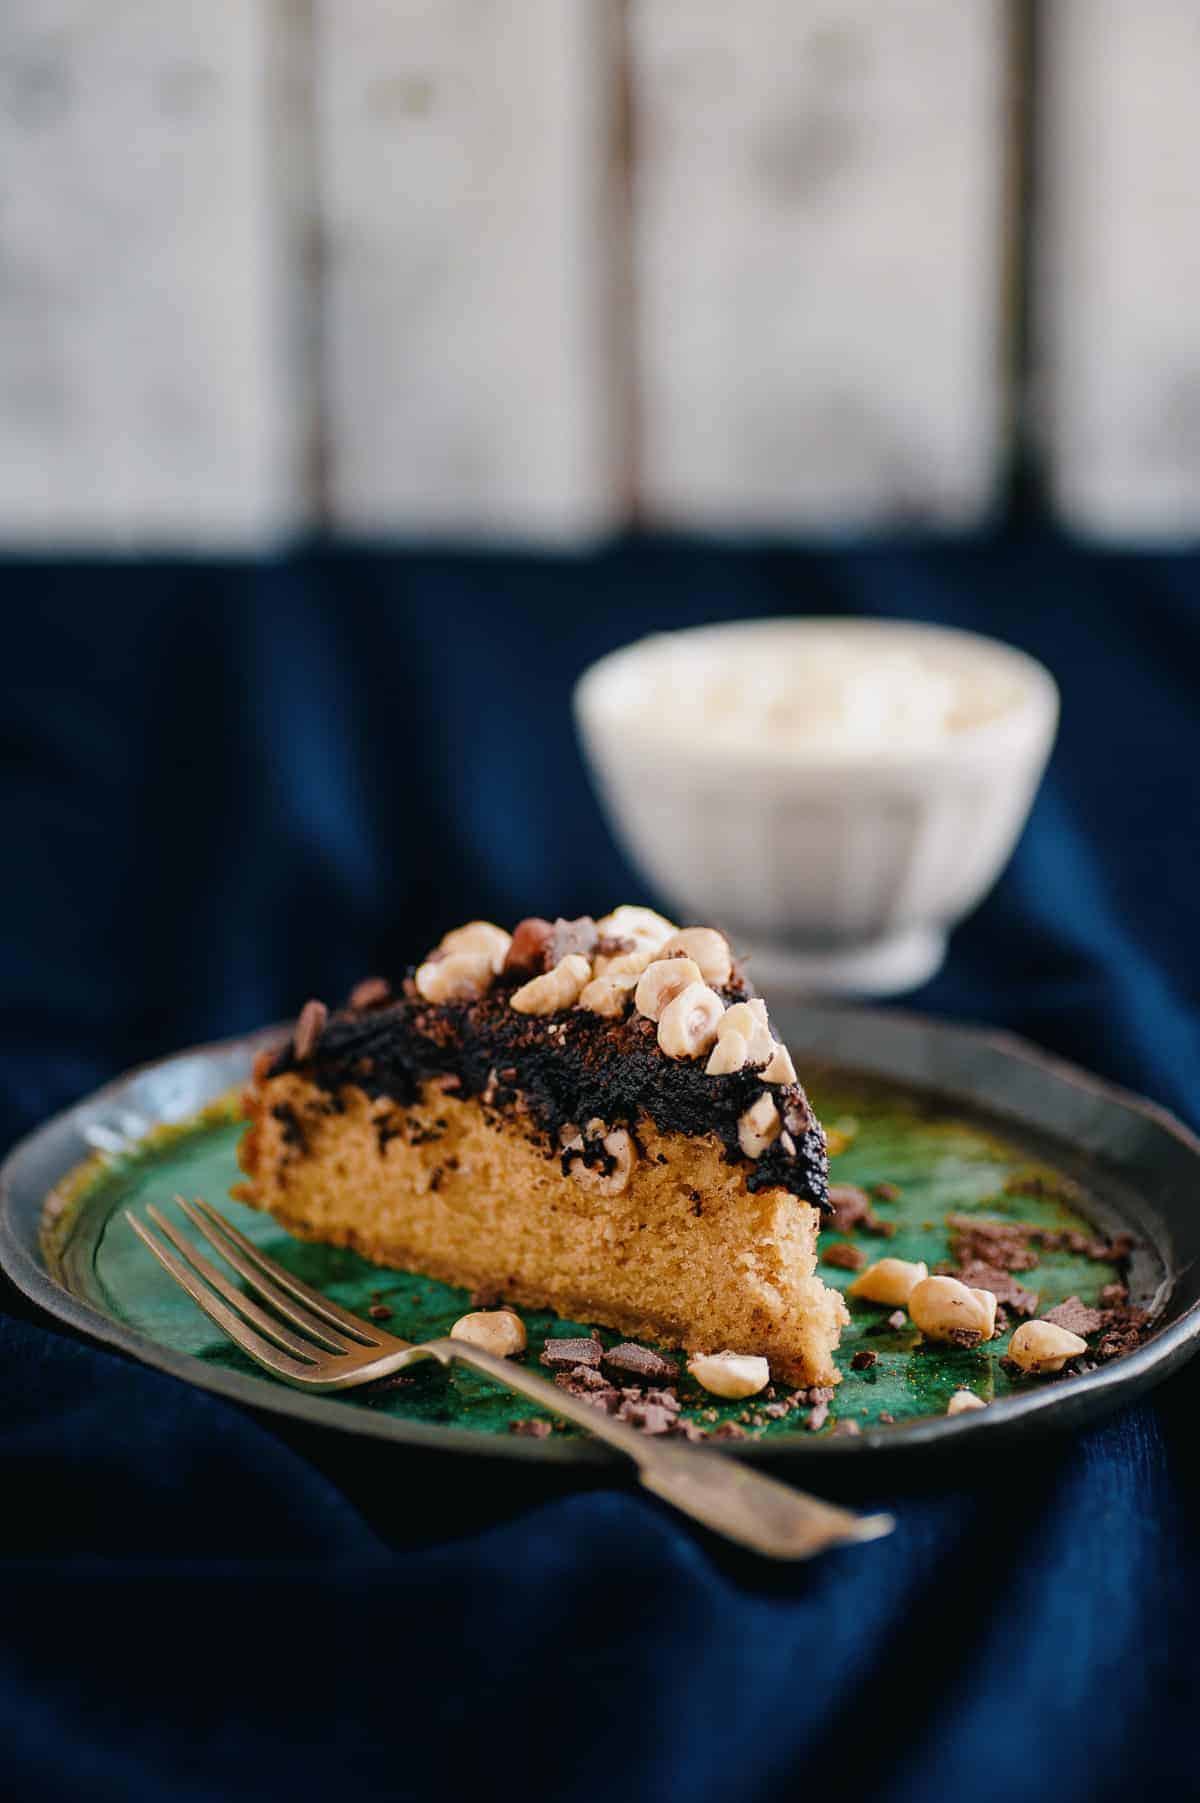
{"type": "Polygon", "coordinates": [[[495,1358],[467,1340],[429,1340],[411,1349],[411,1359],[434,1358],[441,1365],[459,1363],[483,1372],[506,1390],[526,1396],[555,1415],[564,1415],[598,1441],[616,1446],[632,1459],[645,1489],[712,1527],[730,1540],[766,1558],[804,1560],[823,1547],[854,1540],[877,1540],[895,1525],[888,1515],[852,1515],[820,1496],[791,1489],[777,1478],[755,1471],[741,1459],[699,1446],[647,1439],[625,1421],[614,1421],[593,1403],[586,1403],[559,1385],[521,1365],[495,1358]]]}

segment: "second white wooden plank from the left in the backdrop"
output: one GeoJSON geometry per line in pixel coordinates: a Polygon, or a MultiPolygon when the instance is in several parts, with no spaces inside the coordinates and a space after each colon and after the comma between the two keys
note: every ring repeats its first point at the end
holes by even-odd
{"type": "Polygon", "coordinates": [[[620,512],[611,0],[319,0],[333,523],[620,512]]]}

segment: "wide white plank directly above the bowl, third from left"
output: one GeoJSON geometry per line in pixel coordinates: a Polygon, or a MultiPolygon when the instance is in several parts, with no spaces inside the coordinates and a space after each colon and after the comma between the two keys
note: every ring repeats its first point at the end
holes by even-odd
{"type": "Polygon", "coordinates": [[[631,0],[643,505],[719,530],[987,508],[998,0],[631,0]]]}

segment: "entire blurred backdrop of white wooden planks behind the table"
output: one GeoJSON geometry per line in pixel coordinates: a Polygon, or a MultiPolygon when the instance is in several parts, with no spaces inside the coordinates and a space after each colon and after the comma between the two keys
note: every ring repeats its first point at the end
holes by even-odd
{"type": "Polygon", "coordinates": [[[0,550],[957,530],[1014,429],[1196,537],[1198,83],[1200,0],[4,0],[0,550]]]}

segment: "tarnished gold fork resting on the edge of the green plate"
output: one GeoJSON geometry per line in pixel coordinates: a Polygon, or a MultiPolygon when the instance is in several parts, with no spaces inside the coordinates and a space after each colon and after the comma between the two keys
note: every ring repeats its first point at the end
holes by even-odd
{"type": "Polygon", "coordinates": [[[348,1309],[292,1277],[207,1203],[187,1203],[182,1195],[175,1201],[209,1246],[274,1313],[231,1284],[162,1210],[150,1204],[146,1213],[175,1251],[128,1210],[126,1221],[209,1320],[285,1383],[301,1390],[344,1390],[387,1377],[423,1359],[436,1359],[440,1365],[458,1359],[459,1365],[483,1372],[517,1396],[541,1403],[551,1414],[564,1415],[596,1439],[616,1446],[632,1459],[641,1484],[663,1502],[766,1558],[807,1560],[825,1547],[877,1540],[881,1534],[890,1534],[895,1525],[890,1515],[850,1515],[818,1496],[789,1489],[737,1459],[647,1439],[627,1423],[614,1421],[591,1403],[548,1383],[546,1377],[495,1358],[467,1340],[429,1340],[423,1345],[396,1340],[395,1334],[386,1334],[373,1322],[350,1314],[348,1309]]]}

